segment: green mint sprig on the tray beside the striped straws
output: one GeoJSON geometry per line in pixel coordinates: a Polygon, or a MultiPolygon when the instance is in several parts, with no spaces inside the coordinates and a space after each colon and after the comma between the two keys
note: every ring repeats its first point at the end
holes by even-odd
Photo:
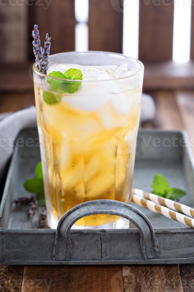
{"type": "Polygon", "coordinates": [[[177,188],[169,187],[167,179],[157,173],[152,181],[152,193],[170,200],[179,199],[186,195],[186,192],[177,188]]]}

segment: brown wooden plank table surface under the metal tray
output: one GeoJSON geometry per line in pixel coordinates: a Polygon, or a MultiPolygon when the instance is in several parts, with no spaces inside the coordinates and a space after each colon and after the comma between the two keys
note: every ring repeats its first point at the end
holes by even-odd
{"type": "MultiPolygon", "coordinates": [[[[185,129],[194,137],[194,91],[152,91],[146,128],[185,129]]],[[[0,112],[34,104],[33,93],[1,93],[0,112]]],[[[194,149],[194,148],[193,148],[194,149]]],[[[193,151],[194,153],[194,151],[193,151]]],[[[0,291],[194,291],[194,265],[0,266],[0,291]]]]}

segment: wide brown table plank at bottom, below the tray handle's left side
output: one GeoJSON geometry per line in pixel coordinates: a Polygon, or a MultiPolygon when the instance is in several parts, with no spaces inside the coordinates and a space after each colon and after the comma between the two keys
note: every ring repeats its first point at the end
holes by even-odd
{"type": "Polygon", "coordinates": [[[123,291],[122,266],[26,266],[21,292],[44,291],[49,283],[51,291],[123,291]]]}

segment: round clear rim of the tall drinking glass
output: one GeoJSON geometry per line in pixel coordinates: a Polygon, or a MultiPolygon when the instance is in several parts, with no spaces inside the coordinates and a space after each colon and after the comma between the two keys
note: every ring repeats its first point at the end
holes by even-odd
{"type": "MultiPolygon", "coordinates": [[[[128,57],[126,55],[123,55],[123,54],[120,54],[120,53],[113,53],[113,52],[106,52],[106,51],[85,51],[85,52],[76,52],[76,51],[71,51],[71,52],[61,52],[61,53],[56,53],[56,54],[53,54],[53,55],[50,55],[50,57],[52,56],[56,56],[58,54],[74,54],[74,53],[82,53],[82,54],[87,54],[87,53],[106,53],[106,54],[112,54],[112,55],[117,55],[117,56],[122,56],[124,58],[128,58],[128,59],[131,59],[133,61],[135,61],[136,63],[138,63],[139,65],[139,69],[137,69],[136,72],[132,73],[132,74],[128,74],[128,75],[125,75],[125,76],[121,76],[121,77],[116,77],[116,78],[111,78],[111,79],[101,79],[101,80],[72,80],[72,79],[62,79],[62,78],[57,78],[57,77],[53,77],[53,76],[49,76],[47,74],[44,74],[40,71],[38,71],[38,69],[36,68],[36,62],[33,63],[33,71],[38,74],[39,76],[42,76],[42,77],[46,77],[46,78],[50,78],[50,79],[54,79],[54,80],[61,80],[61,81],[68,81],[68,82],[80,82],[80,83],[98,83],[98,82],[106,82],[106,81],[112,81],[112,80],[119,80],[119,79],[125,79],[125,78],[128,78],[128,77],[132,77],[132,76],[136,76],[138,75],[144,68],[144,65],[141,61],[135,59],[135,58],[131,58],[131,57],[128,57]]],[[[102,65],[103,66],[103,65],[102,65]]]]}

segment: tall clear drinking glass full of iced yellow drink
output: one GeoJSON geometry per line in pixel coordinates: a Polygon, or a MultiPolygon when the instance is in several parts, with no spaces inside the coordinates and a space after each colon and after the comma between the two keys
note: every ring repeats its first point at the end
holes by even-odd
{"type": "MultiPolygon", "coordinates": [[[[50,56],[48,72],[64,73],[69,68],[80,69],[83,80],[51,77],[33,66],[51,228],[56,228],[66,211],[86,201],[131,202],[143,64],[109,52],[50,56]]],[[[90,215],[74,227],[125,228],[126,220],[90,215]]]]}

